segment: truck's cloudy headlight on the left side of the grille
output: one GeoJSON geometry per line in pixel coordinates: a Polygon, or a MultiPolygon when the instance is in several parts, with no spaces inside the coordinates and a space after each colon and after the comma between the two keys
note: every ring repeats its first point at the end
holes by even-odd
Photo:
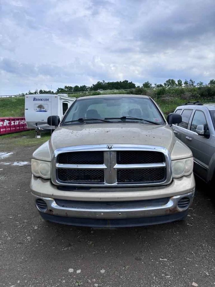
{"type": "Polygon", "coordinates": [[[31,172],[42,178],[50,178],[51,163],[49,161],[31,160],[31,172]]]}

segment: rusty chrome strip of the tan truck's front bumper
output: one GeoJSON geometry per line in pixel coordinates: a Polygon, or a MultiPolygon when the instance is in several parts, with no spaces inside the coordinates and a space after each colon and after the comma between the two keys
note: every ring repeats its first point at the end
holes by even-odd
{"type": "Polygon", "coordinates": [[[53,198],[42,197],[32,193],[34,203],[36,205],[37,199],[42,199],[47,204],[47,210],[42,211],[36,205],[36,208],[42,212],[54,216],[64,216],[72,218],[85,219],[131,219],[142,217],[165,216],[174,213],[180,213],[188,210],[193,201],[195,189],[189,193],[172,196],[164,205],[129,207],[132,201],[128,202],[128,206],[124,208],[79,208],[79,207],[62,207],[56,204],[53,198]],[[179,208],[178,201],[183,197],[188,197],[190,203],[186,208],[179,208]]]}

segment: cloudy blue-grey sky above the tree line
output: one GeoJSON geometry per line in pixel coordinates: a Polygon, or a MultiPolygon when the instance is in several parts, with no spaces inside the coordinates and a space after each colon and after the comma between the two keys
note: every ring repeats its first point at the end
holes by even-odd
{"type": "Polygon", "coordinates": [[[215,78],[214,0],[1,0],[0,94],[215,78]]]}

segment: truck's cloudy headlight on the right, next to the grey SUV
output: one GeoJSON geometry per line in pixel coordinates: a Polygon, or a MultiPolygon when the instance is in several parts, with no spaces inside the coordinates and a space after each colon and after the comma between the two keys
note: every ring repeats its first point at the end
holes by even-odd
{"type": "Polygon", "coordinates": [[[172,161],[172,176],[179,178],[193,172],[193,158],[179,159],[172,161]]]}

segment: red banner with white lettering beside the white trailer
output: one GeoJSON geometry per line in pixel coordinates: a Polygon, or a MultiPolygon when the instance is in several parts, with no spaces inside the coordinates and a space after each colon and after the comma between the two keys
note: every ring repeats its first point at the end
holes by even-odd
{"type": "Polygon", "coordinates": [[[24,117],[0,117],[0,135],[22,132],[27,129],[24,117]]]}

